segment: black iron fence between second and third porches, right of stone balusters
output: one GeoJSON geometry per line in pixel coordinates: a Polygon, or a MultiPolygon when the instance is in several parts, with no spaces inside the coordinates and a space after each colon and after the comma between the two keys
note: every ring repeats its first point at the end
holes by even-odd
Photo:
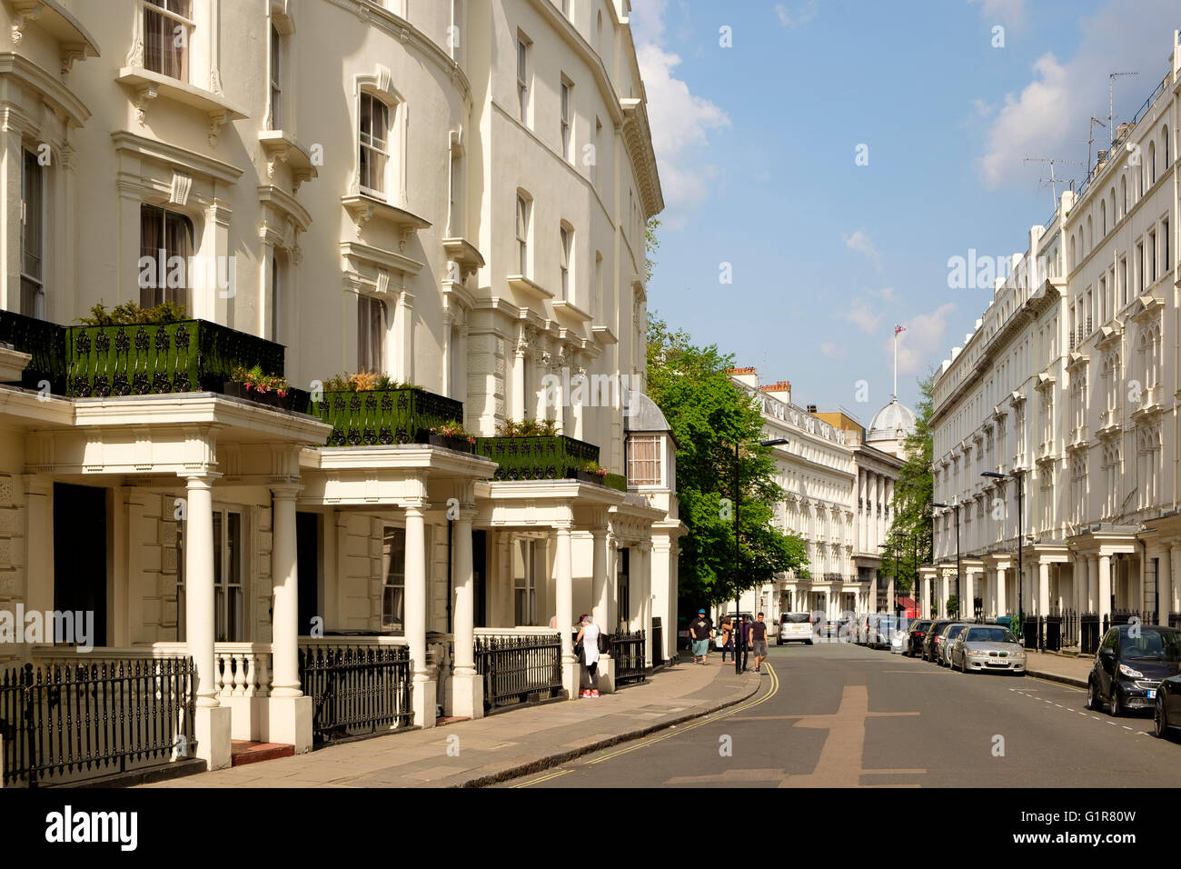
{"type": "Polygon", "coordinates": [[[301,646],[299,681],[312,698],[317,742],[409,727],[413,719],[405,646],[301,646]]]}

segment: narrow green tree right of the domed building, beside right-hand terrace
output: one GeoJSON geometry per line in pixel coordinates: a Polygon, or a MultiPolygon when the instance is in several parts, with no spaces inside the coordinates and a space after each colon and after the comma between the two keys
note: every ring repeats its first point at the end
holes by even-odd
{"type": "Polygon", "coordinates": [[[894,546],[901,558],[898,563],[895,588],[912,591],[918,588],[918,571],[914,563],[914,538],[919,538],[919,564],[931,564],[934,528],[931,521],[931,502],[934,500],[934,482],[931,474],[932,437],[931,411],[934,407],[932,390],[935,372],[931,371],[919,381],[922,398],[915,408],[915,426],[906,437],[906,463],[894,484],[894,520],[890,524],[892,543],[889,560],[883,555],[883,566],[893,568],[894,546]],[[898,537],[893,537],[898,534],[898,537]]]}

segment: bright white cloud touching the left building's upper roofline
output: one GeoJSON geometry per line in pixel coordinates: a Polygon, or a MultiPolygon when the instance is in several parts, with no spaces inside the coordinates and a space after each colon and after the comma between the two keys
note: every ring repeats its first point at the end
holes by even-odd
{"type": "Polygon", "coordinates": [[[729,127],[730,118],[674,74],[680,56],[661,46],[667,6],[667,0],[637,0],[632,14],[638,19],[633,30],[635,53],[648,97],[660,187],[665,203],[674,209],[696,205],[709,195],[709,181],[718,169],[700,155],[709,148],[709,132],[729,127]]]}

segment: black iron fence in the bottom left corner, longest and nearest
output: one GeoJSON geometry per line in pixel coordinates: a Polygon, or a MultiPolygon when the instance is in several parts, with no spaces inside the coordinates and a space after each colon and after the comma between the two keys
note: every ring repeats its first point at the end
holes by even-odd
{"type": "Polygon", "coordinates": [[[84,782],[188,759],[194,682],[191,657],[4,670],[4,784],[84,782]]]}

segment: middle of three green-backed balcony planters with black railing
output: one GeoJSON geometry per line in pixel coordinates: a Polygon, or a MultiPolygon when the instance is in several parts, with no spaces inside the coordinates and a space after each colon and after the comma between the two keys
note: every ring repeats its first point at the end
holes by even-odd
{"type": "Polygon", "coordinates": [[[332,426],[329,447],[426,443],[432,427],[463,420],[463,402],[425,389],[325,393],[312,415],[332,426]]]}

